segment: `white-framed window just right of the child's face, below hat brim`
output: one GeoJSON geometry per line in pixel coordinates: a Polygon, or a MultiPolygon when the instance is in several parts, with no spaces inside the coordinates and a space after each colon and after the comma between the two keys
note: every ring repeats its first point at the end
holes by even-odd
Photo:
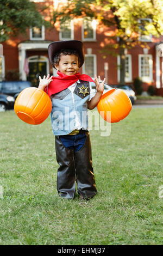
{"type": "Polygon", "coordinates": [[[95,77],[95,75],[97,74],[95,54],[85,54],[85,62],[83,64],[83,74],[85,74],[85,72],[90,77],[95,77]]]}

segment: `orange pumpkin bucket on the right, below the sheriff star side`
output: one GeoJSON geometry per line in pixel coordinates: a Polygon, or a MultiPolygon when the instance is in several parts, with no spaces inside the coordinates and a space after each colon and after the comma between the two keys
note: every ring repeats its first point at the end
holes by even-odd
{"type": "Polygon", "coordinates": [[[127,117],[132,109],[132,103],[121,89],[111,89],[104,93],[97,104],[99,114],[109,123],[117,123],[127,117]],[[107,116],[111,112],[111,120],[107,116]]]}

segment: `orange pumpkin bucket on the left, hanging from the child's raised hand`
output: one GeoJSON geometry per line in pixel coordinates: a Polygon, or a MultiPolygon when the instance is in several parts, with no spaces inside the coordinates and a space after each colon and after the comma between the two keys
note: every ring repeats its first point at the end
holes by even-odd
{"type": "Polygon", "coordinates": [[[52,111],[52,101],[43,90],[29,87],[17,96],[14,110],[22,121],[41,124],[52,111]]]}

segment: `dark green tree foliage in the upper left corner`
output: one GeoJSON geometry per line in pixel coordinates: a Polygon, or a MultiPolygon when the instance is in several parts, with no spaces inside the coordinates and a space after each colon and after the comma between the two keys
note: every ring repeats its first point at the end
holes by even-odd
{"type": "Polygon", "coordinates": [[[42,19],[41,13],[47,7],[38,10],[35,3],[30,0],[1,0],[0,2],[0,42],[25,33],[29,27],[48,25],[42,19]]]}

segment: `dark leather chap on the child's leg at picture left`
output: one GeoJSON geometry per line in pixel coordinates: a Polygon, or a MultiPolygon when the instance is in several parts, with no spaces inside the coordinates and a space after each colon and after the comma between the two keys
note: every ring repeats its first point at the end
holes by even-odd
{"type": "Polygon", "coordinates": [[[55,136],[55,151],[60,166],[57,173],[58,193],[61,197],[73,199],[76,193],[73,150],[65,148],[59,136],[55,136]]]}

